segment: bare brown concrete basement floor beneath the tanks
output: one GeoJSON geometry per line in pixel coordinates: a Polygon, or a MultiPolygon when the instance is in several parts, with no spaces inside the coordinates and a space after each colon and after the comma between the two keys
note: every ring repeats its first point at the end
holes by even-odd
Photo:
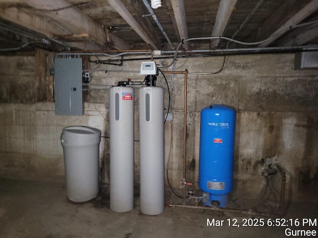
{"type": "MultiPolygon", "coordinates": [[[[180,207],[148,216],[140,212],[138,197],[135,200],[134,210],[116,213],[103,193],[91,201],[73,203],[62,183],[0,179],[0,238],[282,238],[288,228],[243,227],[243,219],[263,218],[266,223],[270,218],[180,207]],[[210,227],[207,219],[225,222],[210,227]],[[237,219],[240,226],[230,227],[227,219],[237,219]]],[[[291,204],[284,217],[316,221],[318,202],[291,204]]],[[[317,226],[292,229],[317,231],[317,226]]]]}

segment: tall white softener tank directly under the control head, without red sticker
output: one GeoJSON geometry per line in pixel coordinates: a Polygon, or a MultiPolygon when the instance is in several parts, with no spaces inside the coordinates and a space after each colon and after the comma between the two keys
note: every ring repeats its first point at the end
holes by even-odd
{"type": "Polygon", "coordinates": [[[140,208],[147,215],[164,209],[163,88],[139,89],[140,208]]]}

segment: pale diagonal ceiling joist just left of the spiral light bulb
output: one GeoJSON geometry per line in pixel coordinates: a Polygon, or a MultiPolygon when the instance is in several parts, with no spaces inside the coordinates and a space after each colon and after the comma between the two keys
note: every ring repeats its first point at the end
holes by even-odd
{"type": "Polygon", "coordinates": [[[118,12],[119,15],[121,15],[122,18],[125,19],[134,31],[153,48],[153,50],[158,50],[158,47],[155,44],[156,41],[148,36],[121,0],[108,0],[108,3],[118,12]]]}

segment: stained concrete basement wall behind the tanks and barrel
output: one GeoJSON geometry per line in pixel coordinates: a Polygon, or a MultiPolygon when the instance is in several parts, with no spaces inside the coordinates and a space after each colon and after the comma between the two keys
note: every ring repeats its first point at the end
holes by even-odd
{"type": "MultiPolygon", "coordinates": [[[[0,62],[3,62],[1,59],[0,62]]],[[[198,189],[200,111],[206,106],[221,103],[229,105],[237,111],[233,198],[257,198],[265,186],[265,180],[261,175],[261,160],[277,155],[277,160],[287,173],[288,199],[315,200],[318,194],[316,186],[318,182],[318,144],[315,143],[318,139],[318,70],[294,70],[294,54],[275,54],[230,56],[227,57],[226,66],[222,72],[215,75],[202,74],[202,72],[218,71],[223,59],[223,57],[183,58],[176,62],[175,70],[183,71],[187,68],[189,71],[186,179],[195,184],[189,189],[198,189]]],[[[24,61],[24,59],[17,58],[10,60],[24,61]]],[[[51,164],[55,164],[52,168],[57,168],[55,170],[46,169],[43,172],[44,177],[46,177],[45,175],[52,176],[52,178],[56,175],[63,177],[62,147],[58,147],[62,128],[81,123],[102,128],[102,134],[108,136],[108,89],[102,85],[116,85],[118,81],[128,78],[132,81],[142,81],[144,77],[138,73],[141,61],[124,61],[122,66],[100,65],[97,68],[98,65],[91,64],[90,68],[95,70],[91,71],[92,80],[88,87],[89,94],[86,96],[87,103],[85,104],[87,109],[85,109],[83,117],[58,118],[54,115],[53,103],[15,105],[7,104],[9,101],[6,101],[6,96],[0,97],[2,102],[0,109],[1,112],[5,111],[4,114],[12,114],[17,107],[20,108],[20,111],[22,109],[28,111],[28,114],[32,115],[29,116],[31,120],[34,119],[32,125],[20,126],[18,121],[24,120],[23,113],[15,113],[15,115],[20,115],[18,117],[20,119],[16,119],[17,122],[14,122],[11,128],[22,130],[23,139],[10,139],[9,134],[16,134],[18,131],[5,131],[5,137],[1,135],[5,142],[1,142],[0,163],[6,168],[3,169],[4,166],[1,166],[0,176],[14,177],[14,170],[20,170],[24,163],[28,164],[28,169],[24,170],[25,176],[28,175],[28,170],[40,173],[37,163],[41,162],[43,168],[46,165],[50,167],[51,164]],[[116,70],[116,72],[112,70],[116,70]],[[117,72],[117,70],[135,72],[117,72]],[[98,110],[94,105],[97,105],[98,110]],[[98,111],[103,114],[106,121],[98,111]],[[43,120],[39,117],[40,112],[45,112],[46,116],[43,120]],[[29,133],[32,134],[32,138],[26,135],[29,133]],[[50,138],[48,140],[51,140],[51,143],[45,142],[44,137],[50,138]],[[11,148],[7,153],[6,150],[9,150],[7,148],[10,148],[8,147],[10,140],[22,144],[21,149],[11,148]],[[29,146],[30,149],[28,149],[29,146]],[[9,153],[13,156],[8,161],[3,155],[7,156],[9,153]],[[57,153],[58,162],[54,162],[54,153],[57,153]],[[29,155],[46,159],[37,159],[40,162],[31,163],[28,162],[29,155]],[[7,169],[8,165],[11,166],[10,169],[7,169]]],[[[169,59],[156,61],[160,64],[159,66],[167,65],[170,62],[169,59]]],[[[12,67],[15,65],[12,64],[12,67]]],[[[164,70],[171,69],[172,67],[164,70]]],[[[171,75],[165,74],[165,76],[170,83],[171,75]]],[[[2,80],[4,79],[0,77],[0,81],[2,80]]],[[[158,77],[158,85],[166,87],[162,75],[158,77]]],[[[170,182],[177,189],[180,179],[183,178],[183,74],[174,74],[170,91],[173,120],[167,121],[164,125],[165,166],[170,182]]],[[[20,101],[18,102],[20,103],[20,101]]],[[[138,90],[135,90],[135,102],[135,182],[138,186],[138,90]]],[[[167,109],[167,105],[168,96],[165,92],[165,109],[167,109]]],[[[1,117],[8,123],[12,123],[11,119],[3,116],[3,113],[1,117]]],[[[5,124],[0,128],[2,131],[8,130],[10,125],[5,124]]],[[[103,146],[100,156],[101,171],[105,172],[104,181],[106,181],[109,140],[102,139],[101,144],[103,146]]],[[[42,177],[39,178],[42,179],[42,177]]]]}

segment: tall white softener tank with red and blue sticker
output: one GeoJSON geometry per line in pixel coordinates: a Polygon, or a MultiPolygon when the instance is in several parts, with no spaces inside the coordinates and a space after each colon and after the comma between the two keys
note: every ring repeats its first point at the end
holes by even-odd
{"type": "Polygon", "coordinates": [[[110,209],[134,207],[134,89],[109,89],[110,209]]]}

